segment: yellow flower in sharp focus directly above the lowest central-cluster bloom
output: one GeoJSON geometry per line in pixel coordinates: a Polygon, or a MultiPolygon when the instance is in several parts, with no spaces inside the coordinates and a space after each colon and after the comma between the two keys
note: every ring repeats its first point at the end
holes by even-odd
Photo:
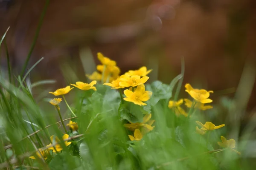
{"type": "Polygon", "coordinates": [[[122,78],[120,77],[121,82],[119,85],[122,87],[135,87],[144,84],[148,79],[149,77],[147,76],[140,78],[140,76],[128,77],[123,75],[122,78]]]}

